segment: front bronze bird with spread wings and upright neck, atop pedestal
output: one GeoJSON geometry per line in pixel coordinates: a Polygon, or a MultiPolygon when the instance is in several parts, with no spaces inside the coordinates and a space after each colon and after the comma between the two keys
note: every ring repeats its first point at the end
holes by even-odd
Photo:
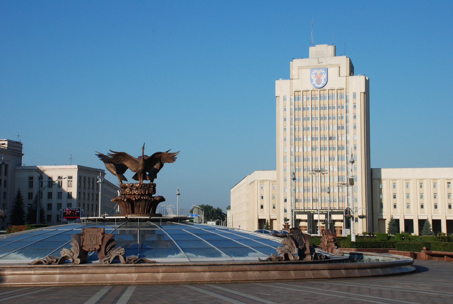
{"type": "Polygon", "coordinates": [[[178,152],[156,152],[151,156],[145,155],[145,144],[142,147],[142,155],[135,158],[125,152],[115,152],[110,150],[112,153],[111,162],[115,164],[125,164],[132,172],[136,172],[132,179],[138,180],[139,183],[143,183],[144,180],[149,180],[151,183],[157,177],[157,173],[162,169],[164,163],[174,163],[178,152]],[[149,174],[147,174],[149,172],[149,174]]]}

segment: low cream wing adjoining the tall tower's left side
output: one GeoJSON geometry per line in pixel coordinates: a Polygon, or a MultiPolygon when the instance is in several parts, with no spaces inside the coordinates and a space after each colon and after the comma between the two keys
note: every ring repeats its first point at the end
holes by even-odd
{"type": "Polygon", "coordinates": [[[268,220],[271,229],[280,230],[275,170],[253,171],[231,188],[230,193],[228,227],[255,231],[263,229],[268,220]]]}

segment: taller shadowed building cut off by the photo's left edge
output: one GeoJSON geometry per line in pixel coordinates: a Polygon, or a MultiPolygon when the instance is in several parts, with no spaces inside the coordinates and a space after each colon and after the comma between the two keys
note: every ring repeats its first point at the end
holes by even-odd
{"type": "Polygon", "coordinates": [[[6,210],[8,217],[0,219],[1,230],[8,227],[11,204],[14,201],[14,168],[22,166],[22,143],[14,140],[0,140],[0,154],[5,164],[0,165],[0,207],[6,210]]]}

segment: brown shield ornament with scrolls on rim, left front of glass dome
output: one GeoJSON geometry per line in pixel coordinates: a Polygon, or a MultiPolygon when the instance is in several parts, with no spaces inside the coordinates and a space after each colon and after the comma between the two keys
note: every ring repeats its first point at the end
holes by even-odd
{"type": "Polygon", "coordinates": [[[45,265],[61,265],[66,260],[71,260],[72,264],[87,263],[88,252],[97,250],[97,257],[100,264],[111,264],[113,260],[119,259],[122,264],[136,264],[140,261],[146,263],[155,263],[148,259],[138,256],[126,256],[122,247],[116,248],[114,235],[105,233],[104,228],[89,227],[82,228],[82,233],[73,234],[71,241],[71,250],[63,248],[58,256],[46,256],[44,259],[35,260],[29,265],[45,264],[45,265]]]}

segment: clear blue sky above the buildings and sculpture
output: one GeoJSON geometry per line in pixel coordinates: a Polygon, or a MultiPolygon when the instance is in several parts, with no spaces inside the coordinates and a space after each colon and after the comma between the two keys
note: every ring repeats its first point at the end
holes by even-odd
{"type": "MultiPolygon", "coordinates": [[[[275,80],[314,43],[370,77],[371,166],[453,167],[451,1],[1,1],[0,137],[26,165],[181,150],[157,195],[225,209],[275,169],[275,80]],[[450,155],[450,156],[448,156],[450,155]]],[[[126,174],[128,178],[131,173],[126,174]]],[[[110,175],[109,180],[116,182],[110,175]]]]}

